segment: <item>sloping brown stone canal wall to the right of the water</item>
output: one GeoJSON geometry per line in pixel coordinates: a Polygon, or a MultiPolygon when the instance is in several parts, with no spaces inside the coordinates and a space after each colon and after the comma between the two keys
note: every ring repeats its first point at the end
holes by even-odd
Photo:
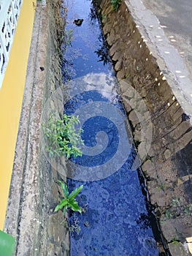
{"type": "Polygon", "coordinates": [[[122,1],[99,7],[104,36],[145,173],[166,249],[189,255],[191,246],[191,104],[158,55],[146,29],[122,1]],[[188,242],[188,244],[187,244],[188,242]]]}

